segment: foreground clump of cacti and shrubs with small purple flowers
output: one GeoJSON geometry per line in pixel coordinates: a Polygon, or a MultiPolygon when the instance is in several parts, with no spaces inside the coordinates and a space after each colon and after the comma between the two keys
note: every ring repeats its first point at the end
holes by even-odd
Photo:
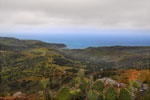
{"type": "Polygon", "coordinates": [[[45,100],[150,100],[150,90],[142,88],[137,81],[129,81],[127,86],[120,83],[106,84],[101,78],[94,80],[93,76],[85,77],[84,69],[78,76],[61,87],[54,95],[50,89],[49,79],[41,81],[45,100]]]}

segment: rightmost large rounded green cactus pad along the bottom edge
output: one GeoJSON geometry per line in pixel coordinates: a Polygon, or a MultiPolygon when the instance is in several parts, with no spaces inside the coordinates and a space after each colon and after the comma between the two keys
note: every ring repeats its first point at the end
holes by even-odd
{"type": "Polygon", "coordinates": [[[133,97],[128,89],[122,88],[120,90],[119,100],[133,100],[133,97]]]}

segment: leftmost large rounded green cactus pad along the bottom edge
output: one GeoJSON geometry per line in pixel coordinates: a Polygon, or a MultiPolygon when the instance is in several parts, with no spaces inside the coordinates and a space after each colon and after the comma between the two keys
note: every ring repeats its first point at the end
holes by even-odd
{"type": "Polygon", "coordinates": [[[58,100],[70,100],[71,94],[69,92],[69,88],[63,87],[59,90],[57,95],[58,100]]]}

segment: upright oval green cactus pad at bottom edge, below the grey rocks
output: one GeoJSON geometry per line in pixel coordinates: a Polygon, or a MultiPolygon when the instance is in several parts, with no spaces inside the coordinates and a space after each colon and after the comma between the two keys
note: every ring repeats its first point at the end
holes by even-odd
{"type": "Polygon", "coordinates": [[[109,87],[106,91],[106,100],[116,100],[117,95],[114,87],[109,87]]]}

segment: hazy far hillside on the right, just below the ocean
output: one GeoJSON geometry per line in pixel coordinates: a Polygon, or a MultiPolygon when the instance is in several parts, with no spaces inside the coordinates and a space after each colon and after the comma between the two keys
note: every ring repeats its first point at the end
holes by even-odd
{"type": "MultiPolygon", "coordinates": [[[[150,47],[89,47],[86,49],[63,49],[72,58],[98,68],[150,68],[150,47]]],[[[89,68],[88,67],[88,68],[89,68]]]]}

